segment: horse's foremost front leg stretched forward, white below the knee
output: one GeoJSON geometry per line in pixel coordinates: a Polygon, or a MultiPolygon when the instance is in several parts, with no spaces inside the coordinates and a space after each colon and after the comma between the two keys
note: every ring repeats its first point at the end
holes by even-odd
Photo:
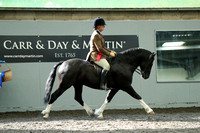
{"type": "Polygon", "coordinates": [[[135,90],[132,88],[132,86],[129,86],[129,87],[123,89],[123,91],[127,92],[133,98],[139,100],[140,104],[144,107],[145,111],[148,114],[154,114],[153,110],[142,100],[141,96],[138,95],[137,92],[135,92],[135,90]]]}

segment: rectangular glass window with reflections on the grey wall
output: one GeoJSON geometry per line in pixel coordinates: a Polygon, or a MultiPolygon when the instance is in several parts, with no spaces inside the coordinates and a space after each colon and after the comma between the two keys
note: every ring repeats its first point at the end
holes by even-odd
{"type": "Polygon", "coordinates": [[[200,81],[200,31],[156,31],[157,81],[200,81]]]}

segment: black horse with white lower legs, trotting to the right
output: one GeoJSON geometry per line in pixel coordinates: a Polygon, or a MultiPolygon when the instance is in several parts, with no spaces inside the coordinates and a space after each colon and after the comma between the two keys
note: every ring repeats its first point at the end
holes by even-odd
{"type": "Polygon", "coordinates": [[[137,94],[131,84],[133,73],[138,72],[137,70],[140,70],[144,79],[149,78],[155,55],[154,52],[143,48],[131,48],[116,54],[115,57],[108,57],[107,60],[111,68],[107,75],[107,87],[110,89],[102,106],[94,111],[82,99],[83,85],[100,89],[100,76],[94,64],[78,58],[59,62],[53,67],[46,82],[44,102],[48,104],[46,109],[42,111],[43,118],[49,117],[52,104],[71,86],[75,90],[74,99],[86,110],[89,116],[96,115],[98,119],[103,119],[105,107],[119,90],[127,92],[137,99],[148,114],[154,114],[154,111],[137,94]],[[60,66],[58,70],[59,87],[51,94],[58,66],[60,66]]]}

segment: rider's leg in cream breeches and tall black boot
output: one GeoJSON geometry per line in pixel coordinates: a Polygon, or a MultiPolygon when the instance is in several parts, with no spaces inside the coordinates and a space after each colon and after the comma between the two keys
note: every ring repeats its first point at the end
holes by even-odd
{"type": "Polygon", "coordinates": [[[106,59],[100,59],[100,61],[94,61],[94,63],[103,68],[101,72],[100,88],[106,90],[107,89],[106,77],[107,77],[108,71],[110,70],[110,64],[107,62],[106,59]]]}

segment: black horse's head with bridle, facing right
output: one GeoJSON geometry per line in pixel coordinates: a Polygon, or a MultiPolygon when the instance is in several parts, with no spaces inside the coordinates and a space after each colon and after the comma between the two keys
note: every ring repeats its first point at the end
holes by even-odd
{"type": "Polygon", "coordinates": [[[151,68],[153,65],[153,61],[154,61],[154,56],[156,55],[156,53],[151,53],[150,55],[148,55],[148,57],[146,59],[144,59],[141,64],[140,64],[140,71],[141,71],[141,75],[144,79],[148,79],[151,73],[151,68]]]}

